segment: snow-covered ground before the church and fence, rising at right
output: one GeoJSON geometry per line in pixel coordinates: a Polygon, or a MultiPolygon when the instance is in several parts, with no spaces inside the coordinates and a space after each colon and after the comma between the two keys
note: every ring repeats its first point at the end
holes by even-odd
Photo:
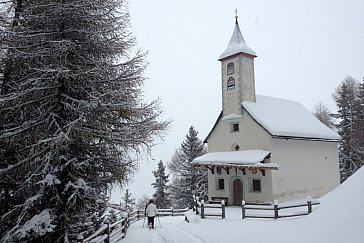
{"type": "Polygon", "coordinates": [[[239,207],[227,207],[226,218],[160,217],[157,228],[130,226],[121,243],[361,243],[364,242],[364,168],[320,199],[310,215],[285,219],[241,219],[239,207]],[[161,227],[160,227],[161,225],[161,227]]]}

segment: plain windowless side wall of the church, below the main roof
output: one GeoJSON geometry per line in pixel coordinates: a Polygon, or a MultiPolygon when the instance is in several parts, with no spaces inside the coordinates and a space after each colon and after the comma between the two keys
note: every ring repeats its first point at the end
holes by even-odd
{"type": "Polygon", "coordinates": [[[318,198],[340,184],[337,142],[274,139],[271,160],[274,198],[318,198]]]}

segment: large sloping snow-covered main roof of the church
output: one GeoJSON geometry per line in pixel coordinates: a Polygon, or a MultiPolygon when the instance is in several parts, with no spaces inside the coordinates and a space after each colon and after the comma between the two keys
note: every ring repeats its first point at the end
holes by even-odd
{"type": "Polygon", "coordinates": [[[257,95],[256,102],[243,101],[242,106],[272,136],[321,140],[341,138],[295,101],[257,95]]]}

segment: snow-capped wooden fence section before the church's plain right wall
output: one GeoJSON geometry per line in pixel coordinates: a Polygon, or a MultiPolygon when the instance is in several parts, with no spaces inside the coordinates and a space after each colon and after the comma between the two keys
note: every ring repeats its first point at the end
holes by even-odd
{"type": "Polygon", "coordinates": [[[319,205],[320,202],[318,200],[312,200],[311,197],[307,197],[306,202],[294,202],[294,203],[283,203],[278,204],[278,201],[274,201],[274,205],[245,205],[245,201],[242,202],[242,218],[271,218],[271,219],[278,219],[278,218],[285,218],[285,217],[296,217],[296,216],[303,216],[308,215],[312,212],[313,205],[319,205]],[[300,211],[300,212],[283,212],[281,213],[280,210],[290,209],[290,208],[297,208],[297,207],[307,207],[307,210],[300,211]],[[247,210],[254,210],[254,211],[273,211],[272,214],[254,214],[254,213],[247,213],[247,210]]]}

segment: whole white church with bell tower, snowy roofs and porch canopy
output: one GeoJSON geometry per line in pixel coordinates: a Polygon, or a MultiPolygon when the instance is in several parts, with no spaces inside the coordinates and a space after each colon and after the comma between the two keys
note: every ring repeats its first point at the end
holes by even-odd
{"type": "Polygon", "coordinates": [[[222,112],[205,139],[209,200],[228,205],[321,197],[340,183],[340,136],[298,102],[255,94],[254,58],[236,17],[220,55],[222,112]]]}

